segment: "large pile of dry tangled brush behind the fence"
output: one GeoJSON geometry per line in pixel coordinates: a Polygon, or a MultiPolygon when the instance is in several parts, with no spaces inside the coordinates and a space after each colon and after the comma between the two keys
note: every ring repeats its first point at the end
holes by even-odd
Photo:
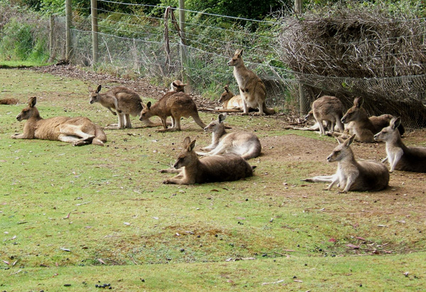
{"type": "Polygon", "coordinates": [[[386,9],[339,8],[283,18],[280,60],[306,84],[312,99],[333,94],[349,106],[366,99],[371,114],[426,125],[426,24],[386,9]]]}

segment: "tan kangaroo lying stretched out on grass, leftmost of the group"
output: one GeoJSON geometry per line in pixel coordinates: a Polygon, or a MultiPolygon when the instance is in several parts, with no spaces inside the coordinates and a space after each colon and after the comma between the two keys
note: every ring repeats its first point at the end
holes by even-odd
{"type": "Polygon", "coordinates": [[[104,146],[107,142],[99,125],[92,123],[89,118],[55,117],[43,119],[35,107],[37,99],[28,99],[28,107],[23,108],[16,120],[28,120],[23,126],[23,134],[12,135],[12,139],[42,139],[72,143],[73,146],[94,144],[104,146]]]}

